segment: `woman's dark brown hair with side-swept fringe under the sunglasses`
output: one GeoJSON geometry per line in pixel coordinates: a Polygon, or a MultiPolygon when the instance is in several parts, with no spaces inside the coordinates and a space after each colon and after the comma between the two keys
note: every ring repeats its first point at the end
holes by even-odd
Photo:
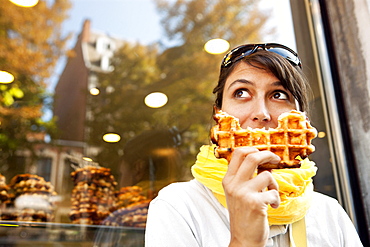
{"type": "Polygon", "coordinates": [[[298,101],[299,110],[309,112],[308,98],[311,93],[311,88],[302,69],[292,65],[282,56],[265,50],[258,50],[226,68],[221,68],[218,84],[213,89],[213,93],[216,94],[215,106],[218,109],[222,107],[222,97],[226,80],[240,62],[245,62],[253,67],[270,71],[279,79],[283,87],[289,90],[298,101]]]}

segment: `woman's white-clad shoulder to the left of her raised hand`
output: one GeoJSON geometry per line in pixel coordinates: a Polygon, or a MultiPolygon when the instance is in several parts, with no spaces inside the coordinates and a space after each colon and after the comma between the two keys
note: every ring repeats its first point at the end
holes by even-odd
{"type": "Polygon", "coordinates": [[[229,241],[227,215],[227,209],[198,181],[170,184],[150,203],[146,243],[150,246],[226,246],[229,241]],[[210,225],[214,231],[209,231],[210,225]]]}

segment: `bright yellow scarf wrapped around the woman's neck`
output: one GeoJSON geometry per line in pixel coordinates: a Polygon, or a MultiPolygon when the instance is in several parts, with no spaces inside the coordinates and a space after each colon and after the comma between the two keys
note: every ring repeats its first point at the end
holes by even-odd
{"type": "MultiPolygon", "coordinates": [[[[191,172],[196,180],[209,188],[217,200],[226,208],[226,198],[222,179],[226,174],[228,162],[217,159],[214,146],[204,145],[200,148],[191,172]]],[[[311,204],[313,193],[312,177],[316,175],[315,163],[305,159],[301,168],[276,169],[272,175],[279,184],[280,206],[277,209],[268,207],[270,225],[291,224],[302,219],[311,204]]]]}

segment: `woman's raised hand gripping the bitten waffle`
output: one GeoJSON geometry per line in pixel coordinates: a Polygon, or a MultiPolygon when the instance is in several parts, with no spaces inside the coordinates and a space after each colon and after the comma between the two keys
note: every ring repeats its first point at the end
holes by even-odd
{"type": "Polygon", "coordinates": [[[254,174],[259,165],[279,161],[279,156],[272,152],[251,147],[237,148],[233,152],[222,185],[230,215],[230,233],[239,244],[267,240],[268,205],[279,207],[279,186],[268,171],[254,174]]]}

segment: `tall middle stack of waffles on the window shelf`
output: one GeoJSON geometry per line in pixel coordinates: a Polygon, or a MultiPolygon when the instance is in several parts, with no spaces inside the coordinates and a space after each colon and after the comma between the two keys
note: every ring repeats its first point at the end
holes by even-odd
{"type": "Polygon", "coordinates": [[[69,218],[74,224],[99,225],[114,210],[117,182],[109,168],[84,166],[71,173],[74,188],[69,218]]]}

